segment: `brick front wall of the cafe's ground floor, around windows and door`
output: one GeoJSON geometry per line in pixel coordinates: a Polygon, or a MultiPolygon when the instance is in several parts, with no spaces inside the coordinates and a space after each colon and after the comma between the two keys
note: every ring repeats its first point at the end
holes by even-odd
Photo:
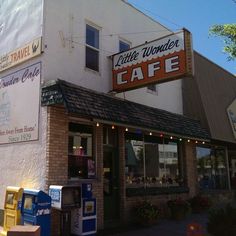
{"type": "MultiPolygon", "coordinates": [[[[49,185],[64,185],[68,183],[68,122],[69,117],[63,107],[48,107],[48,130],[47,130],[47,176],[46,189],[49,185]]],[[[79,123],[79,121],[78,121],[79,123]]],[[[103,126],[95,127],[94,141],[95,157],[97,164],[97,179],[92,181],[93,194],[97,198],[97,226],[102,229],[104,226],[103,213],[103,126]]],[[[132,215],[132,209],[143,197],[126,197],[125,177],[125,139],[124,128],[118,128],[119,147],[119,170],[120,170],[120,219],[128,222],[132,215]]],[[[182,198],[189,198],[198,192],[196,149],[194,143],[183,143],[183,163],[189,194],[178,194],[182,198]]],[[[159,205],[163,209],[163,215],[167,213],[166,201],[176,197],[176,194],[148,196],[147,199],[159,205]]],[[[58,235],[59,216],[58,212],[52,213],[52,235],[58,235]]]]}

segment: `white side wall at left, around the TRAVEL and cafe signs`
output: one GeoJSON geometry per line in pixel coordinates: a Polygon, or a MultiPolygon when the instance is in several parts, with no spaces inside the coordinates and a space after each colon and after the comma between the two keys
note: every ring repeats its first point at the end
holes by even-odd
{"type": "MultiPolygon", "coordinates": [[[[0,58],[5,53],[42,36],[43,0],[0,0],[0,8],[0,58]]],[[[0,79],[39,61],[38,57],[3,71],[0,73],[0,79]]],[[[15,99],[18,99],[17,96],[15,99]]],[[[28,112],[30,117],[30,112],[25,109],[27,104],[20,105],[22,107],[18,106],[18,109],[20,107],[22,113],[28,112]]],[[[14,100],[11,101],[11,106],[12,110],[17,110],[14,109],[14,100]]],[[[12,123],[14,122],[16,127],[17,118],[19,117],[12,117],[12,123]]],[[[0,209],[4,207],[7,186],[42,190],[45,188],[46,118],[46,109],[40,109],[38,140],[0,145],[0,209]]]]}

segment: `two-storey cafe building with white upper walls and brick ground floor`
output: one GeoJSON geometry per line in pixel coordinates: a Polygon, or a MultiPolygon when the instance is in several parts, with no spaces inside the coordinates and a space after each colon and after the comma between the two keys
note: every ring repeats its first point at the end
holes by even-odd
{"type": "Polygon", "coordinates": [[[111,55],[170,30],[122,0],[4,4],[4,23],[20,24],[1,32],[0,196],[91,182],[102,229],[146,197],[161,206],[199,192],[196,145],[211,137],[184,116],[192,78],[111,92],[111,55]]]}

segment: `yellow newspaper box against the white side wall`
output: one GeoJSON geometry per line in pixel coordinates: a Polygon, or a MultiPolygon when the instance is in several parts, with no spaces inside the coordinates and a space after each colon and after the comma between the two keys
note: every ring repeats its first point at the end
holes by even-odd
{"type": "Polygon", "coordinates": [[[4,223],[3,231],[0,236],[7,235],[7,231],[15,225],[21,224],[21,201],[23,188],[7,187],[4,204],[4,223]]]}

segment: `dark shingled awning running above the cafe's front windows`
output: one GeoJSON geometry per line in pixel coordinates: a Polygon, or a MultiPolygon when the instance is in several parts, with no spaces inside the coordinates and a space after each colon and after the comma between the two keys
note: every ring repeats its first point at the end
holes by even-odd
{"type": "Polygon", "coordinates": [[[165,110],[122,100],[56,80],[42,88],[42,106],[64,104],[68,113],[198,139],[209,139],[199,121],[165,110]]]}

